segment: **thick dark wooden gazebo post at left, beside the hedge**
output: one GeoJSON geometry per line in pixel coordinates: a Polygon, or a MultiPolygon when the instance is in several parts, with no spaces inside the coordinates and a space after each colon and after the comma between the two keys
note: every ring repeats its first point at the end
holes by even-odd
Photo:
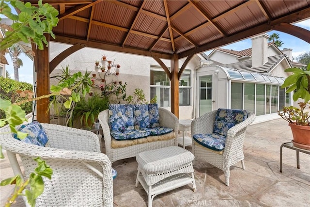
{"type": "MultiPolygon", "coordinates": [[[[49,35],[45,34],[49,43],[49,35]]],[[[44,45],[44,49],[37,49],[35,58],[37,58],[37,97],[49,94],[49,49],[44,45]]],[[[37,100],[37,121],[40,123],[49,123],[48,111],[49,98],[37,100]]]]}

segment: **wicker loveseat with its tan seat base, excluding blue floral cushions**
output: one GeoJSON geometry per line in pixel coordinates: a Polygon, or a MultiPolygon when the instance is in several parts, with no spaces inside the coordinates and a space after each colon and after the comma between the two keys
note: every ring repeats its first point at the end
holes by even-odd
{"type": "MultiPolygon", "coordinates": [[[[124,106],[128,107],[128,105],[125,105],[125,104],[124,106]]],[[[125,113],[128,113],[128,111],[130,110],[126,108],[125,111],[124,110],[119,111],[119,113],[122,113],[122,115],[124,115],[125,113]]],[[[158,136],[147,136],[141,139],[134,138],[134,139],[129,139],[129,140],[116,140],[111,135],[112,129],[110,128],[111,123],[109,121],[110,119],[109,111],[110,111],[109,109],[101,111],[98,115],[98,119],[103,129],[106,154],[108,155],[111,162],[115,162],[116,160],[119,160],[119,159],[135,157],[140,152],[144,152],[147,150],[177,145],[176,134],[178,133],[179,120],[173,113],[171,113],[171,111],[168,111],[161,107],[158,108],[157,106],[157,111],[158,111],[157,118],[158,118],[159,126],[171,128],[173,131],[171,131],[170,133],[165,133],[165,134],[158,135],[158,136]]],[[[148,111],[143,112],[143,114],[145,113],[148,114],[148,111]]],[[[135,112],[133,112],[133,114],[135,114],[135,112]]],[[[136,112],[136,115],[137,115],[137,112],[136,112]]],[[[148,122],[147,118],[144,119],[144,121],[148,122]]],[[[143,124],[145,123],[140,122],[140,125],[143,125],[143,124]]],[[[152,126],[152,121],[150,121],[150,126],[152,126]]],[[[145,126],[140,126],[140,128],[141,127],[145,127],[145,126]]],[[[137,126],[135,126],[134,130],[135,129],[139,130],[138,128],[137,126]]],[[[144,129],[140,131],[142,131],[141,133],[143,133],[144,129]]]]}

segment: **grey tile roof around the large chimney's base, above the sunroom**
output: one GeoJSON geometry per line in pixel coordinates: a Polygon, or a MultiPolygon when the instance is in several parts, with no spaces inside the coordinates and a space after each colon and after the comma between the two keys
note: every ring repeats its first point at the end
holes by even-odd
{"type": "MultiPolygon", "coordinates": [[[[252,67],[252,60],[243,61],[239,63],[233,63],[233,64],[225,64],[224,67],[237,69],[240,71],[248,71],[248,72],[254,72],[254,73],[269,73],[279,62],[281,62],[284,58],[288,60],[288,58],[284,55],[275,55],[268,57],[268,60],[263,66],[260,67],[252,67]]],[[[290,61],[289,61],[290,62],[290,61]]]]}

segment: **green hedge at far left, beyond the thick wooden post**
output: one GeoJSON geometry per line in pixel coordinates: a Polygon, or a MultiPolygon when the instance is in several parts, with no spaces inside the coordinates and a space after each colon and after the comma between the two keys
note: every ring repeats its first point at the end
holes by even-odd
{"type": "MultiPolygon", "coordinates": [[[[18,98],[17,90],[25,91],[25,90],[33,90],[33,86],[30,83],[26,82],[18,82],[16,80],[10,78],[0,77],[0,98],[3,100],[10,100],[14,103],[17,99],[22,100],[23,98],[18,98]]],[[[25,110],[26,114],[32,111],[32,102],[27,102],[20,105],[23,110],[25,110]]],[[[0,118],[5,118],[4,112],[0,111],[0,118]]]]}

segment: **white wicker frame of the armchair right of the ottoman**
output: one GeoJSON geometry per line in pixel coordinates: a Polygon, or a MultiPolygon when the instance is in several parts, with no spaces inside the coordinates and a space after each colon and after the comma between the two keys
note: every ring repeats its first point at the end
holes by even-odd
{"type": "MultiPolygon", "coordinates": [[[[201,117],[192,121],[191,133],[194,134],[209,134],[213,132],[215,117],[217,110],[210,111],[201,117]]],[[[225,185],[229,186],[230,166],[241,161],[242,169],[245,169],[243,143],[246,135],[247,126],[255,120],[255,114],[248,112],[248,118],[230,128],[227,132],[226,143],[222,155],[209,150],[192,139],[192,153],[195,159],[202,159],[219,169],[224,171],[225,185]]]]}

